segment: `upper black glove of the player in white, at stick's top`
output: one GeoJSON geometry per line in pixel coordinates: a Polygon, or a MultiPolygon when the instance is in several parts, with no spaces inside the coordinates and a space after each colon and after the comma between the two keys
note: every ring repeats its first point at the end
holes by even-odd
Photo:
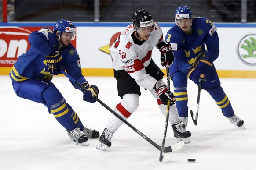
{"type": "Polygon", "coordinates": [[[167,44],[165,46],[162,46],[160,49],[160,60],[161,60],[161,65],[163,67],[167,67],[172,65],[172,62],[174,60],[174,55],[172,53],[172,47],[170,44],[167,44]]]}

